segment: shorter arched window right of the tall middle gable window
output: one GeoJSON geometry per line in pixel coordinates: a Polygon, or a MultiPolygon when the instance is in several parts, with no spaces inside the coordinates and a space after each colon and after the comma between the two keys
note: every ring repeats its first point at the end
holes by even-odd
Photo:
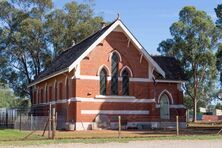
{"type": "Polygon", "coordinates": [[[125,68],[122,72],[122,93],[123,96],[128,96],[129,95],[129,72],[128,70],[125,68]]]}

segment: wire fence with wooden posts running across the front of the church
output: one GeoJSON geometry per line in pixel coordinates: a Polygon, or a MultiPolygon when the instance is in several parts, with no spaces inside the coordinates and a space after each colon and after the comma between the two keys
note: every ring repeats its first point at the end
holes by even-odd
{"type": "MultiPolygon", "coordinates": [[[[176,115],[170,119],[160,119],[159,116],[147,115],[97,115],[91,123],[79,122],[81,130],[91,130],[91,132],[81,133],[81,131],[66,132],[64,130],[77,129],[77,125],[73,122],[66,122],[65,113],[56,113],[55,108],[48,110],[35,110],[27,109],[0,109],[0,128],[17,129],[18,131],[26,132],[21,138],[29,137],[29,135],[38,135],[37,137],[44,138],[97,138],[97,137],[140,137],[138,131],[143,131],[144,136],[152,134],[175,134],[176,130],[181,130],[185,134],[190,133],[218,133],[222,128],[220,125],[212,129],[197,129],[194,131],[183,130],[182,124],[186,124],[186,116],[179,116],[178,120],[176,115]],[[138,122],[133,122],[137,120],[138,122]],[[149,121],[149,122],[143,122],[149,121]],[[171,129],[170,131],[167,129],[171,129]],[[103,130],[101,130],[103,129],[103,130]],[[219,129],[219,130],[218,130],[219,129]],[[121,131],[121,134],[117,132],[121,131]],[[132,134],[131,131],[137,131],[132,134]]],[[[222,124],[221,124],[222,125],[222,124]]],[[[192,129],[193,130],[193,129],[192,129]]],[[[182,133],[181,132],[181,133],[182,133]]],[[[179,133],[179,132],[178,132],[179,133]]],[[[36,136],[34,136],[36,137],[36,136]]],[[[7,138],[6,138],[7,139],[7,138]]],[[[1,136],[0,136],[1,141],[1,136]]]]}

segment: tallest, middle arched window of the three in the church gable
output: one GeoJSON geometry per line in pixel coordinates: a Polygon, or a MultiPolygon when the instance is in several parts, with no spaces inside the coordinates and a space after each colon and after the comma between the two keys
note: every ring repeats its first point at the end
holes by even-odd
{"type": "Polygon", "coordinates": [[[119,56],[114,52],[112,54],[111,95],[118,95],[118,63],[119,56]]]}

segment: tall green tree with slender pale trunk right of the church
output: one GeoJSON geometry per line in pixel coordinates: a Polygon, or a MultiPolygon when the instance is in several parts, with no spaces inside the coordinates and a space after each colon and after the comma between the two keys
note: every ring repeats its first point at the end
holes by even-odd
{"type": "Polygon", "coordinates": [[[189,80],[184,85],[192,99],[193,121],[198,101],[209,100],[216,78],[216,56],[213,52],[218,32],[204,11],[187,6],[179,12],[179,20],[170,27],[172,39],[159,44],[162,55],[173,55],[181,63],[189,80]]]}

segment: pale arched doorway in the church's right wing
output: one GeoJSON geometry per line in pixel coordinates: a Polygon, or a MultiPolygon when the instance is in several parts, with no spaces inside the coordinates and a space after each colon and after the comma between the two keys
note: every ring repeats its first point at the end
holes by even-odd
{"type": "Polygon", "coordinates": [[[169,97],[163,94],[160,98],[160,119],[170,119],[169,97]]]}

